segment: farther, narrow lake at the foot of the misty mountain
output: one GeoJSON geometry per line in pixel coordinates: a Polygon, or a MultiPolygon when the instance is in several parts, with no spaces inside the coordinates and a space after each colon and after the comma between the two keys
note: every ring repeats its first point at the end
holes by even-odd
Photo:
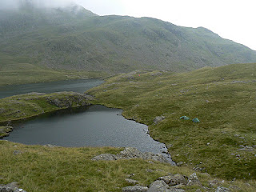
{"type": "Polygon", "coordinates": [[[79,79],[59,82],[42,82],[25,85],[0,86],[0,98],[6,98],[15,94],[27,94],[30,92],[54,93],[59,91],[74,91],[84,93],[94,86],[102,84],[100,79],[79,79]]]}

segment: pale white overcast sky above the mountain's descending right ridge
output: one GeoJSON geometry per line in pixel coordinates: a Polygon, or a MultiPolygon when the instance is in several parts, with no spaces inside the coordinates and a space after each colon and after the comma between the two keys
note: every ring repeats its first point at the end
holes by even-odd
{"type": "Polygon", "coordinates": [[[138,18],[146,16],[178,26],[204,26],[222,38],[231,39],[256,50],[256,0],[74,0],[74,2],[99,15],[118,14],[138,18]]]}

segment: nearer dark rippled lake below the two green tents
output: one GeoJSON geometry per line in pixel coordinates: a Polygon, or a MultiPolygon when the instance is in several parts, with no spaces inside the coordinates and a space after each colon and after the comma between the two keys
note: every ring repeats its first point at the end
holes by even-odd
{"type": "Polygon", "coordinates": [[[56,146],[133,146],[142,152],[166,151],[148,128],[123,118],[122,110],[87,106],[42,115],[14,126],[8,138],[24,144],[56,146]]]}

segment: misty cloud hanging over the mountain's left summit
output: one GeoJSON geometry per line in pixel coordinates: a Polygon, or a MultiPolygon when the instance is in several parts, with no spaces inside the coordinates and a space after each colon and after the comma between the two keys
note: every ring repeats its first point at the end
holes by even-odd
{"type": "Polygon", "coordinates": [[[32,3],[37,8],[65,7],[72,3],[71,0],[1,0],[0,10],[15,10],[25,3],[32,3]]]}

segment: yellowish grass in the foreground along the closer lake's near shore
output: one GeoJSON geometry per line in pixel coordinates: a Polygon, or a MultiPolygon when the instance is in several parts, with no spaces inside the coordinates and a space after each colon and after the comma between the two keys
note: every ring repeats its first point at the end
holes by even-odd
{"type": "MultiPolygon", "coordinates": [[[[65,148],[47,146],[25,146],[0,141],[0,183],[18,182],[20,188],[30,192],[63,191],[121,191],[130,186],[130,177],[147,186],[158,177],[172,174],[189,176],[187,167],[170,166],[142,159],[118,161],[92,161],[98,154],[118,154],[121,148],[65,148]]],[[[198,173],[203,186],[213,178],[198,173]]],[[[238,186],[242,191],[254,191],[255,182],[223,181],[222,186],[238,186]]],[[[187,186],[186,191],[195,191],[198,186],[187,186]]],[[[206,191],[202,189],[201,191],[206,191]]],[[[231,190],[238,191],[238,190],[231,190]]]]}

